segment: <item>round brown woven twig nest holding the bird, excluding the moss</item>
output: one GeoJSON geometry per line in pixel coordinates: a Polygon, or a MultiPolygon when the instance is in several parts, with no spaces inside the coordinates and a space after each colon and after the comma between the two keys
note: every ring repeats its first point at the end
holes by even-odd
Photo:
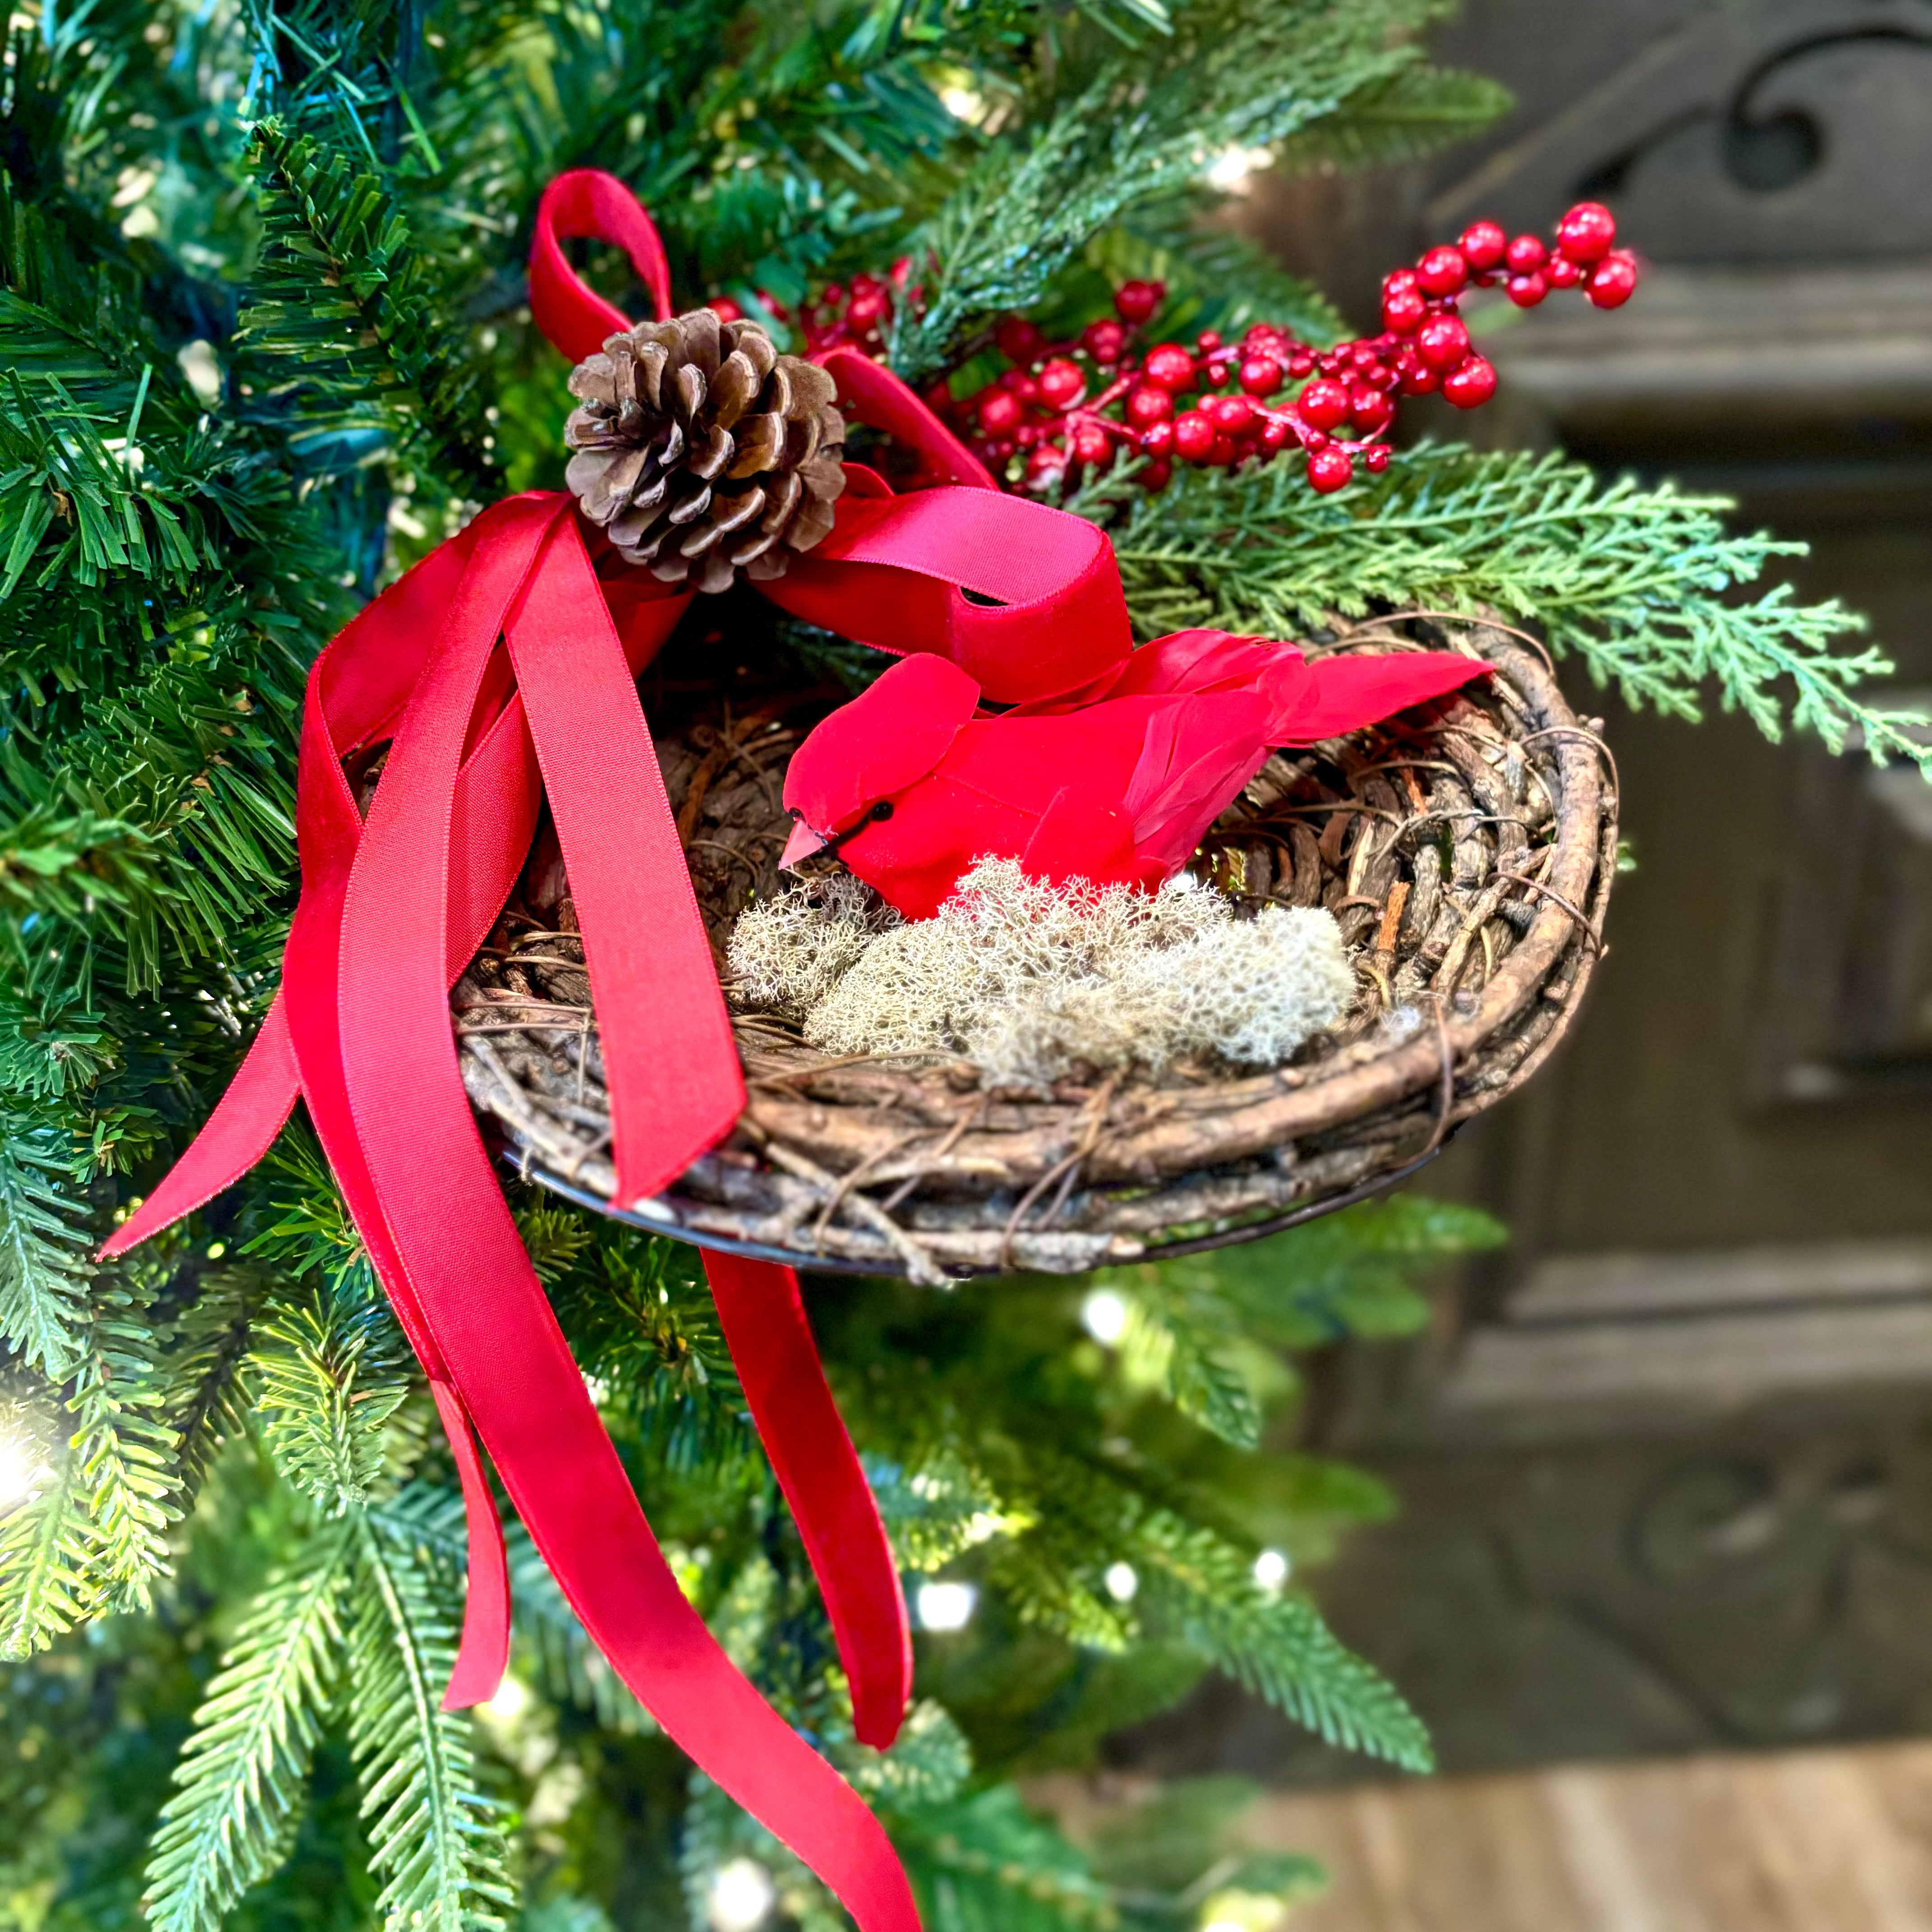
{"type": "MultiPolygon", "coordinates": [[[[962,1059],[831,1059],[769,1014],[740,1014],[750,1103],[730,1140],[657,1202],[618,1208],[597,1018],[545,831],[452,995],[471,1103],[522,1173],[605,1213],[916,1281],[1184,1254],[1360,1200],[1563,1037],[1615,873],[1615,769],[1534,639],[1397,612],[1308,649],[1443,645],[1495,676],[1277,753],[1192,862],[1238,902],[1321,904],[1341,922],[1354,1007],[1281,1068],[989,1090],[962,1059]]],[[[721,972],[732,922],[784,883],[786,759],[840,697],[672,686],[668,711],[663,694],[651,705],[721,972]]]]}

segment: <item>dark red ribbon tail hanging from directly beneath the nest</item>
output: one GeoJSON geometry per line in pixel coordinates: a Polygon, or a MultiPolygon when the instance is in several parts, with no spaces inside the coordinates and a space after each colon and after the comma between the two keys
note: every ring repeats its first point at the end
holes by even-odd
{"type": "Polygon", "coordinates": [[[862,1745],[885,1750],[912,1696],[906,1594],[879,1505],[811,1341],[798,1275],[705,1254],[719,1323],[825,1596],[862,1745]]]}

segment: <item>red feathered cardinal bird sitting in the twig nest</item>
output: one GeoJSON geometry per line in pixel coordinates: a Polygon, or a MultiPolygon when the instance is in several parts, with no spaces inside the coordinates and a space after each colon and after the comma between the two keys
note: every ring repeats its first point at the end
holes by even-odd
{"type": "Polygon", "coordinates": [[[1155,887],[1285,744],[1374,724],[1484,676],[1453,651],[1323,657],[1180,630],[1059,697],[978,717],[943,657],[896,663],[792,755],[781,864],[837,852],[908,920],[980,858],[1055,883],[1155,887]]]}

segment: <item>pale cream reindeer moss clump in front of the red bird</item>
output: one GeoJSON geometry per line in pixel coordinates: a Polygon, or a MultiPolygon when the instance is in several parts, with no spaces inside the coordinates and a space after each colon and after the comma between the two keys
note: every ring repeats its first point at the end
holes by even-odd
{"type": "Polygon", "coordinates": [[[1012,860],[981,860],[912,925],[858,881],[798,885],[738,920],[730,966],[740,1007],[788,1012],[827,1053],[962,1053],[1001,1086],[1184,1059],[1279,1066],[1354,997],[1327,912],[1240,920],[1184,877],[1055,887],[1012,860]]]}

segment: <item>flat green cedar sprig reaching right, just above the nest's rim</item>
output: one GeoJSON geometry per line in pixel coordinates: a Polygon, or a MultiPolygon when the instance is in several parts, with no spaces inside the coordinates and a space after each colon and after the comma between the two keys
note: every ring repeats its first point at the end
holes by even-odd
{"type": "Polygon", "coordinates": [[[1772,740],[1795,726],[1835,752],[1857,732],[1878,761],[1932,761],[1917,715],[1861,696],[1891,672],[1884,651],[1843,647],[1864,620],[1837,599],[1804,605],[1789,583],[1764,585],[1804,545],[1727,529],[1725,497],[1605,485],[1553,454],[1424,444],[1335,497],[1279,466],[1184,471],[1148,497],[1122,469],[1068,508],[1111,527],[1148,634],[1293,636],[1376,603],[1488,603],[1542,626],[1633,705],[1696,719],[1716,686],[1772,740]]]}

